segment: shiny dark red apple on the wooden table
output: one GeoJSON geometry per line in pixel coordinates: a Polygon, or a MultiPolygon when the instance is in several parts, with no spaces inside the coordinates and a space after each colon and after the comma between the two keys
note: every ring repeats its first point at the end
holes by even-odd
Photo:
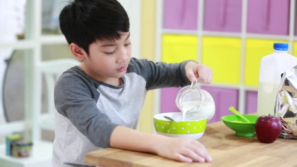
{"type": "Polygon", "coordinates": [[[259,142],[273,143],[281,132],[281,120],[276,116],[260,116],[255,125],[255,131],[259,142]]]}

